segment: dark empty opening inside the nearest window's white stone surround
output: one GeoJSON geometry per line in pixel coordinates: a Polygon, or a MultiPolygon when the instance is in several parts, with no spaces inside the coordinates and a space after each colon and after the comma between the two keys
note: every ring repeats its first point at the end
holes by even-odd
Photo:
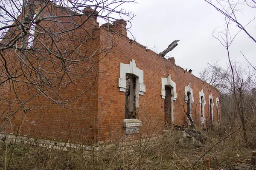
{"type": "Polygon", "coordinates": [[[126,74],[125,119],[136,119],[136,77],[126,74]]]}

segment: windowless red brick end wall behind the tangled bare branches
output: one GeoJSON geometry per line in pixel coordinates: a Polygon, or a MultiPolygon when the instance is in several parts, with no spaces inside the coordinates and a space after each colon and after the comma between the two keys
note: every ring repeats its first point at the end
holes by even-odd
{"type": "MultiPolygon", "coordinates": [[[[41,13],[42,18],[48,16],[49,11],[47,10],[53,10],[50,7],[46,8],[46,11],[41,13]]],[[[60,8],[56,8],[54,12],[56,12],[56,15],[66,15],[60,8]]],[[[51,14],[53,13],[51,12],[51,14]]],[[[86,18],[86,16],[66,17],[61,18],[61,21],[72,22],[76,20],[76,23],[79,24],[79,22],[86,20],[86,18]]],[[[42,21],[40,23],[47,31],[54,29],[58,32],[74,27],[74,25],[70,23],[58,23],[58,27],[55,24],[55,22],[51,21],[42,21]]],[[[23,73],[26,73],[26,77],[22,74],[20,77],[9,80],[0,87],[3,91],[3,94],[0,96],[1,125],[3,125],[5,120],[10,116],[10,119],[2,131],[9,133],[18,132],[23,135],[47,139],[86,143],[93,142],[96,126],[95,122],[97,119],[98,54],[100,51],[96,52],[93,57],[90,56],[97,51],[100,45],[98,36],[99,30],[94,31],[96,27],[95,21],[89,19],[81,28],[70,31],[69,34],[55,34],[53,38],[56,44],[53,45],[49,35],[37,35],[38,39],[44,42],[44,45],[53,48],[52,51],[54,51],[54,49],[56,50],[58,46],[60,53],[56,51],[55,54],[70,60],[84,59],[81,62],[63,61],[47,53],[47,50],[29,51],[26,54],[28,58],[28,60],[25,60],[26,64],[30,67],[33,66],[35,70],[39,70],[38,63],[40,63],[41,70],[45,70],[42,71],[42,74],[49,78],[48,81],[51,82],[52,86],[55,86],[52,89],[49,88],[49,85],[39,86],[42,89],[49,88],[49,90],[44,91],[45,95],[36,95],[39,93],[36,85],[26,83],[28,82],[27,77],[29,77],[31,82],[35,82],[35,80],[39,79],[39,74],[35,71],[32,71],[31,74],[27,74],[31,69],[22,67],[13,48],[3,51],[8,68],[16,68],[17,75],[21,74],[23,71],[23,73]],[[92,39],[89,34],[91,37],[94,37],[94,39],[92,39]],[[76,39],[76,41],[72,41],[73,38],[76,39]],[[30,63],[28,61],[30,61],[30,63]],[[64,64],[65,66],[63,66],[64,64]],[[63,68],[66,68],[66,70],[63,68]],[[67,76],[67,74],[69,75],[67,76]],[[79,79],[77,79],[78,77],[79,79]],[[14,90],[17,92],[17,95],[15,95],[14,90]],[[82,93],[84,91],[85,93],[82,93]],[[48,97],[46,97],[46,95],[48,97]],[[19,99],[17,99],[17,96],[19,99]],[[34,97],[32,97],[29,102],[26,102],[31,96],[34,97]],[[57,102],[54,102],[51,98],[57,102]],[[29,108],[26,113],[24,112],[24,108],[20,107],[21,102],[25,103],[25,108],[29,108]]],[[[36,26],[36,29],[39,30],[40,27],[36,26]]],[[[13,30],[17,29],[10,29],[9,31],[12,31],[12,34],[6,34],[6,39],[2,42],[8,42],[12,37],[15,37],[17,31],[13,30]]],[[[35,48],[43,47],[38,40],[35,40],[33,45],[35,48]]],[[[17,53],[20,54],[19,51],[17,51],[17,53]]],[[[1,67],[1,71],[2,75],[6,74],[4,67],[1,67]]]]}

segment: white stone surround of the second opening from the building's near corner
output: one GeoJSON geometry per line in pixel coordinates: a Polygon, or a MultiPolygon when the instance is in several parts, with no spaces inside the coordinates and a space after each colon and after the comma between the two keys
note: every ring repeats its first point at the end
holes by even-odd
{"type": "Polygon", "coordinates": [[[174,81],[172,81],[170,74],[168,74],[167,78],[163,78],[162,77],[162,89],[161,89],[161,97],[162,99],[165,99],[166,96],[166,90],[165,90],[165,86],[168,86],[171,88],[171,94],[172,94],[172,98],[171,98],[171,103],[172,103],[172,122],[174,121],[174,117],[173,117],[173,101],[177,100],[177,93],[176,93],[176,83],[174,81]]]}

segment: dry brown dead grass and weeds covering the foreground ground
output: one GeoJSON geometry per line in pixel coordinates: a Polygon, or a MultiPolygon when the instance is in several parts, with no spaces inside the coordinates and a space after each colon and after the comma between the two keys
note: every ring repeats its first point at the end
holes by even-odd
{"type": "MultiPolygon", "coordinates": [[[[172,129],[174,131],[174,129],[172,129]]],[[[253,146],[244,147],[241,126],[215,126],[201,129],[204,144],[180,145],[173,136],[159,137],[141,147],[125,142],[116,143],[111,149],[90,154],[64,152],[29,144],[0,144],[0,168],[9,170],[152,170],[152,169],[206,169],[210,159],[213,169],[233,169],[234,162],[250,159],[253,146]],[[12,154],[12,156],[11,156],[12,154]]]]}

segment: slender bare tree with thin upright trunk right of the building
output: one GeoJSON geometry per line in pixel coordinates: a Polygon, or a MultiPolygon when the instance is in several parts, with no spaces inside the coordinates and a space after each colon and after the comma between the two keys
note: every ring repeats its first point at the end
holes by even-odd
{"type": "Polygon", "coordinates": [[[236,116],[239,116],[243,129],[244,142],[247,145],[247,118],[251,113],[248,112],[250,106],[246,104],[248,104],[247,102],[252,102],[248,100],[248,96],[250,96],[248,92],[255,86],[255,69],[253,67],[248,68],[248,65],[242,62],[232,61],[230,46],[237,34],[234,36],[230,34],[229,26],[231,21],[229,17],[226,17],[224,31],[213,32],[213,37],[219,40],[221,45],[227,50],[227,69],[221,68],[215,63],[215,65],[210,65],[207,69],[204,69],[200,73],[200,76],[210,84],[221,88],[221,104],[222,108],[226,109],[226,111],[222,110],[222,113],[232,113],[231,116],[229,115],[232,119],[236,119],[236,116]]]}

